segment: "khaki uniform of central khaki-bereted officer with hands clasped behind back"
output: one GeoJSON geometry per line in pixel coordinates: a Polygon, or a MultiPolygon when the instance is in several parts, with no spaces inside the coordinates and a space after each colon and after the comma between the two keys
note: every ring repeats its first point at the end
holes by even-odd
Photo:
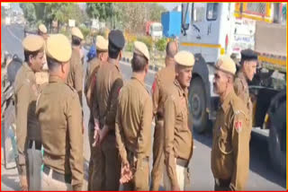
{"type": "Polygon", "coordinates": [[[121,89],[116,118],[116,146],[122,162],[128,161],[133,179],[124,190],[148,190],[151,153],[152,100],[145,83],[132,76],[121,89]]]}

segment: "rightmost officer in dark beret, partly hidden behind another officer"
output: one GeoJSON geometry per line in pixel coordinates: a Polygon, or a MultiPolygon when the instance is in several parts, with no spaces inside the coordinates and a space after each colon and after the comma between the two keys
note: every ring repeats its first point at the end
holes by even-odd
{"type": "MultiPolygon", "coordinates": [[[[250,48],[241,51],[240,69],[236,74],[235,93],[247,106],[250,122],[252,123],[252,102],[249,97],[247,81],[252,81],[257,71],[257,54],[250,48]]],[[[251,124],[252,126],[252,124],[251,124]]],[[[252,127],[251,127],[252,128],[252,127]]]]}

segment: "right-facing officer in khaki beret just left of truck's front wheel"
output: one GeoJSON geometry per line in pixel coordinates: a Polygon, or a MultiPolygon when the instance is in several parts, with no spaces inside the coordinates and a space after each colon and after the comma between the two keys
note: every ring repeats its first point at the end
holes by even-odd
{"type": "Polygon", "coordinates": [[[167,86],[164,103],[164,187],[166,190],[185,190],[190,183],[188,165],[193,154],[187,90],[192,78],[193,54],[179,51],[175,62],[175,81],[167,86]]]}

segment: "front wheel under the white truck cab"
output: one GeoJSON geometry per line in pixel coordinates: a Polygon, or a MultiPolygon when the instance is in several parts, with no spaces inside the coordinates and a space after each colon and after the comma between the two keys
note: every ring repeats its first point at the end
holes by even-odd
{"type": "Polygon", "coordinates": [[[206,112],[204,84],[199,77],[196,77],[191,82],[189,104],[193,116],[193,128],[197,133],[201,134],[206,130],[208,114],[206,112]]]}

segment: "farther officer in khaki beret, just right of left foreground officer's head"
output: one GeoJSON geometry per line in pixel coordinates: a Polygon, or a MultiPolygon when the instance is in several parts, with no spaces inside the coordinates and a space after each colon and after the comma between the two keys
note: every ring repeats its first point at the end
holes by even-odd
{"type": "Polygon", "coordinates": [[[67,84],[78,92],[80,103],[82,106],[83,91],[83,65],[81,56],[81,41],[84,39],[82,32],[74,27],[72,34],[72,57],[70,60],[70,71],[67,76],[67,84]]]}

